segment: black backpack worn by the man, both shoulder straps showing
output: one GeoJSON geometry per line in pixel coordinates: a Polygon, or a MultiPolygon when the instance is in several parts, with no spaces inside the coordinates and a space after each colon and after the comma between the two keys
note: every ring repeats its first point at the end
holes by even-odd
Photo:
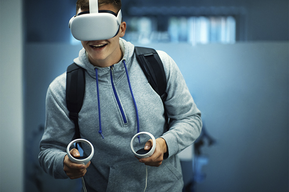
{"type": "MultiPolygon", "coordinates": [[[[136,59],[142,71],[147,77],[151,87],[161,97],[163,105],[166,100],[166,75],[164,66],[158,53],[151,48],[135,47],[136,59]]],[[[75,137],[80,138],[78,126],[78,113],[81,110],[85,91],[85,70],[73,63],[66,71],[66,106],[69,111],[69,118],[75,124],[75,137]]],[[[165,119],[168,123],[168,115],[164,105],[165,119]]]]}

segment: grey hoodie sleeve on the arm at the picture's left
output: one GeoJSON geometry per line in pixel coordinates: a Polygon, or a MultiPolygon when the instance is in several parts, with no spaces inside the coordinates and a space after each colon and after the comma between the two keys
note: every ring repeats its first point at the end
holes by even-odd
{"type": "Polygon", "coordinates": [[[45,130],[38,155],[43,170],[61,179],[68,178],[63,170],[63,160],[66,147],[74,136],[74,124],[65,107],[65,79],[65,74],[57,77],[47,90],[45,130]]]}

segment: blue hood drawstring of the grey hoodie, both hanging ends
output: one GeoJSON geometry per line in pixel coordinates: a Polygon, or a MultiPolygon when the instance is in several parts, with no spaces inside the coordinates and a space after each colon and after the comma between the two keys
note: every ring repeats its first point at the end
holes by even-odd
{"type": "MultiPolygon", "coordinates": [[[[134,108],[136,110],[137,131],[139,133],[140,132],[140,123],[139,123],[139,119],[138,119],[138,108],[136,106],[136,100],[134,99],[134,94],[133,94],[132,89],[131,89],[131,84],[130,84],[130,81],[129,81],[129,76],[128,76],[127,66],[125,64],[125,60],[123,60],[123,65],[125,67],[125,73],[127,75],[127,82],[128,82],[128,85],[129,85],[130,94],[131,94],[132,100],[134,102],[134,108]]],[[[96,86],[97,86],[97,103],[98,103],[98,118],[99,118],[99,131],[98,131],[98,133],[101,134],[102,138],[104,138],[104,136],[102,134],[102,130],[101,130],[101,116],[100,116],[100,101],[99,101],[99,88],[98,88],[97,68],[95,68],[95,76],[96,76],[96,86]]],[[[140,136],[138,136],[138,142],[140,142],[140,136]]]]}

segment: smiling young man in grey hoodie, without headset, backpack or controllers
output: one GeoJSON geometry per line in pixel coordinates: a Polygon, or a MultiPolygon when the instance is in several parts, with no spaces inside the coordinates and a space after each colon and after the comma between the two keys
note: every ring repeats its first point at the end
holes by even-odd
{"type": "MultiPolygon", "coordinates": [[[[121,8],[121,0],[98,2],[99,10],[117,14],[121,8]]],[[[88,10],[88,0],[77,1],[77,14],[88,10]]],[[[55,178],[84,176],[87,191],[142,191],[146,186],[145,165],[148,165],[147,191],[181,191],[183,180],[177,153],[199,136],[201,112],[173,59],[158,51],[167,81],[165,106],[171,119],[167,127],[162,100],[140,68],[134,45],[121,38],[125,29],[126,23],[121,22],[115,37],[81,41],[84,48],[74,59],[85,69],[86,78],[84,103],[79,112],[80,135],[94,146],[94,157],[81,165],[71,162],[66,155],[66,147],[74,139],[75,126],[66,107],[64,73],[47,91],[40,164],[55,178]],[[140,131],[150,132],[156,138],[155,152],[148,158],[136,159],[130,149],[130,140],[137,133],[137,119],[140,131]]],[[[151,145],[147,142],[145,150],[151,145]]],[[[70,153],[79,156],[76,149],[70,153]]]]}

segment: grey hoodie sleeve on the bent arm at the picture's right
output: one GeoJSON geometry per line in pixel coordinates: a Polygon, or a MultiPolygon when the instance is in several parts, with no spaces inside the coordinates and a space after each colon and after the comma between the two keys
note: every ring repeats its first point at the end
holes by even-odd
{"type": "Polygon", "coordinates": [[[188,90],[175,61],[165,52],[158,51],[164,64],[168,94],[165,106],[170,118],[169,130],[161,137],[166,140],[168,157],[181,152],[199,137],[202,128],[201,111],[188,90]]]}

